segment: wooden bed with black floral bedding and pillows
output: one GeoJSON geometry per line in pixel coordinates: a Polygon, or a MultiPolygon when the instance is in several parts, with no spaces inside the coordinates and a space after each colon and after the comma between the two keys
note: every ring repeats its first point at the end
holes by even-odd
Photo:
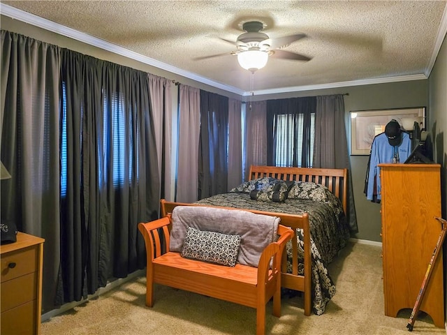
{"type": "MultiPolygon", "coordinates": [[[[295,230],[296,238],[286,247],[281,286],[304,293],[305,315],[310,315],[311,308],[316,315],[321,315],[335,295],[335,284],[326,266],[349,239],[346,190],[347,169],[254,165],[245,183],[193,205],[249,209],[270,215],[298,214],[298,221],[286,223],[295,230]],[[301,228],[305,213],[309,214],[310,238],[301,228]]],[[[162,215],[177,205],[191,204],[162,200],[162,215]]]]}

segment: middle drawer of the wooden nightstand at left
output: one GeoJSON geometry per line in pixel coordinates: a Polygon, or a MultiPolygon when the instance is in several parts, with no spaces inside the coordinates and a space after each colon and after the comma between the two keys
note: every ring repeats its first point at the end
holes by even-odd
{"type": "Polygon", "coordinates": [[[37,272],[1,283],[1,313],[37,297],[37,272]]]}

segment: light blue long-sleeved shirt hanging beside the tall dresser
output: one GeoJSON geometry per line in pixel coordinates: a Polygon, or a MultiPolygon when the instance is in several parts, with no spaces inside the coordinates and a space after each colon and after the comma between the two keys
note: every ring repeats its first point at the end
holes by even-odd
{"type": "Polygon", "coordinates": [[[381,182],[380,182],[380,168],[377,166],[380,163],[404,163],[406,158],[411,154],[411,139],[410,135],[402,132],[402,142],[400,146],[393,147],[388,142],[388,137],[385,133],[381,133],[374,137],[371,146],[371,157],[369,160],[369,174],[367,179],[367,200],[373,200],[374,195],[374,181],[376,181],[377,199],[381,200],[381,182]],[[393,161],[393,158],[396,158],[393,161]]]}

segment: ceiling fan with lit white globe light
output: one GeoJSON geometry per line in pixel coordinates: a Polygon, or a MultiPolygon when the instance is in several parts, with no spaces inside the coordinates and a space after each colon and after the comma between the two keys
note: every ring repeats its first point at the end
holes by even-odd
{"type": "MultiPolygon", "coordinates": [[[[221,38],[221,40],[225,40],[236,46],[237,50],[230,54],[237,55],[237,60],[242,68],[254,72],[259,68],[263,68],[265,64],[267,64],[269,56],[294,61],[309,61],[311,59],[303,54],[283,50],[284,47],[287,47],[296,40],[306,37],[305,34],[270,38],[267,34],[262,32],[263,28],[264,24],[259,21],[244,22],[244,24],[242,24],[242,29],[245,32],[244,34],[237,36],[236,42],[221,38]]],[[[198,57],[196,60],[210,59],[222,55],[225,54],[198,57]]]]}

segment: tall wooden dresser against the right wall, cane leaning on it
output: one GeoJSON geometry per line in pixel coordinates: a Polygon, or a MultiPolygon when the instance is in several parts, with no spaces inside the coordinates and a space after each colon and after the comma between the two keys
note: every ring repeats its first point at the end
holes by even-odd
{"type": "MultiPolygon", "coordinates": [[[[413,308],[441,234],[441,176],[439,164],[379,164],[383,293],[385,315],[413,308]]],[[[434,264],[420,306],[434,325],[444,327],[442,253],[434,264]]]]}

